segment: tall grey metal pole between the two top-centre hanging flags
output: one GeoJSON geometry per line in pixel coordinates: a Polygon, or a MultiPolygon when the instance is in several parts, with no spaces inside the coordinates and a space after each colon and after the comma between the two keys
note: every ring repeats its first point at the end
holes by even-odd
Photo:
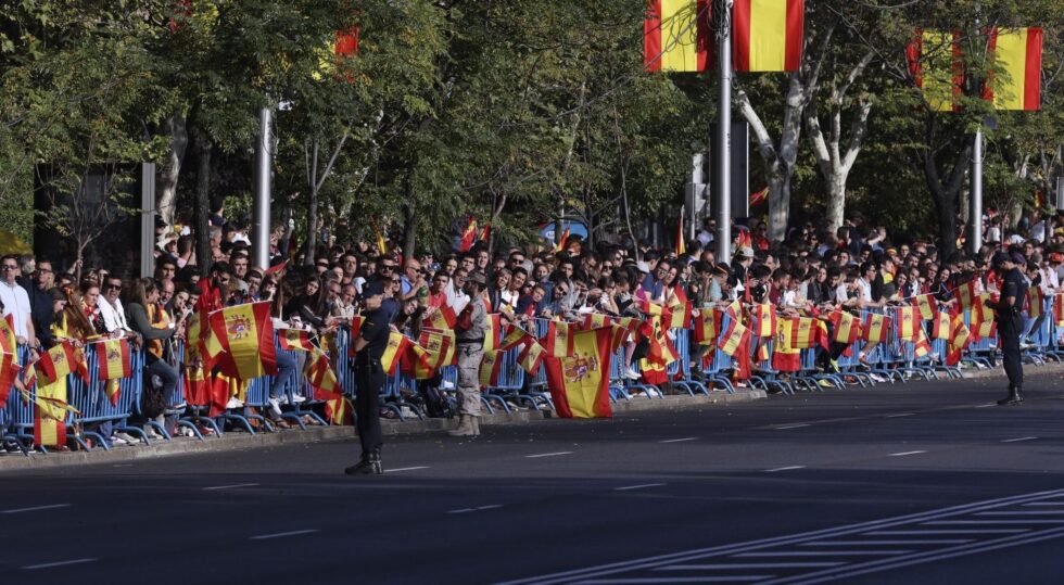
{"type": "MultiPolygon", "coordinates": [[[[719,27],[721,62],[720,118],[718,122],[717,182],[713,212],[717,215],[717,262],[732,262],[732,1],[725,0],[725,26],[719,27]]],[[[720,5],[720,4],[717,4],[720,5]]],[[[715,8],[715,5],[714,5],[715,8]]],[[[717,15],[714,15],[714,18],[717,15]]]]}

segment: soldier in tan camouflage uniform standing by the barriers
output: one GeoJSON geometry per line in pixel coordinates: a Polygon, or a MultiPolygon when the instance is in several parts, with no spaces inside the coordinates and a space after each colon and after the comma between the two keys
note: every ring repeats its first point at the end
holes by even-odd
{"type": "Polygon", "coordinates": [[[458,346],[458,427],[447,431],[451,436],[477,436],[480,434],[480,360],[484,357],[484,334],[487,330],[487,311],[481,300],[486,279],[472,272],[466,279],[464,292],[469,304],[458,315],[455,325],[455,343],[458,346]]]}

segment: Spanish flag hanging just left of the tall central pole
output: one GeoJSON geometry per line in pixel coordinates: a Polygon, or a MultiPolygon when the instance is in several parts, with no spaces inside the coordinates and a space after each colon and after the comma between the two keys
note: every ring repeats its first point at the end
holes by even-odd
{"type": "Polygon", "coordinates": [[[647,71],[707,71],[713,42],[709,4],[709,0],[650,0],[643,22],[647,71]]]}

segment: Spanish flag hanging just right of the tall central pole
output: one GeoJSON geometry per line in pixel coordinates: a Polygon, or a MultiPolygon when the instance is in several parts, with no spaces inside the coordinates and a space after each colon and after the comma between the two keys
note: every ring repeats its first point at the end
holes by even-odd
{"type": "Polygon", "coordinates": [[[803,0],[735,0],[732,16],[735,71],[798,71],[805,18],[803,0]]]}

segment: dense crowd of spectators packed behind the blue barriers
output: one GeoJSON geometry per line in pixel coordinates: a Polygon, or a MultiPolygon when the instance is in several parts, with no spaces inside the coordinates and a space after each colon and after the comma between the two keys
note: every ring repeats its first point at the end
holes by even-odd
{"type": "MultiPolygon", "coordinates": [[[[3,256],[0,303],[30,359],[62,341],[84,344],[125,336],[144,348],[153,383],[169,395],[182,374],[182,356],[175,355],[173,341],[187,335],[190,316],[242,303],[268,302],[276,327],[324,334],[359,315],[364,292],[380,290],[391,328],[415,340],[433,314],[460,315],[471,296],[480,297],[487,313],[499,314],[504,325],[525,329],[534,319],[580,321],[591,313],[639,316],[645,302],[668,305],[677,294],[696,307],[740,300],[771,303],[784,313],[910,304],[922,294],[948,306],[960,284],[974,280],[980,288],[995,288],[990,260],[1002,251],[1022,268],[1029,287],[1044,296],[1060,291],[1064,214],[1035,211],[1015,228],[1004,227],[1011,222],[1000,217],[988,218],[986,225],[986,244],[978,254],[942,257],[929,242],[889,233],[860,218],[835,231],[805,224],[775,243],[768,240],[764,222],[751,220],[734,226],[730,263],[714,254],[713,219],[706,220],[682,254],[673,246],[590,245],[573,237],[557,249],[545,243],[490,251],[480,242],[465,252],[438,256],[423,251],[405,260],[397,246],[385,252],[365,241],[330,242],[305,262],[279,244],[278,231],[270,239],[269,266],[255,266],[246,236],[218,217],[211,226],[207,259],[195,257],[187,230],[161,227],[152,278],[122,278],[105,267],[77,265],[60,271],[49,258],[3,256]],[[201,278],[203,262],[211,268],[201,278]]],[[[628,353],[630,364],[639,357],[638,347],[628,353]]],[[[278,369],[267,414],[283,427],[278,389],[299,369],[281,354],[278,369]]],[[[630,368],[625,376],[638,373],[630,368]]],[[[237,396],[227,405],[242,406],[237,396]]],[[[103,432],[115,444],[137,442],[105,427],[103,432]]]]}

